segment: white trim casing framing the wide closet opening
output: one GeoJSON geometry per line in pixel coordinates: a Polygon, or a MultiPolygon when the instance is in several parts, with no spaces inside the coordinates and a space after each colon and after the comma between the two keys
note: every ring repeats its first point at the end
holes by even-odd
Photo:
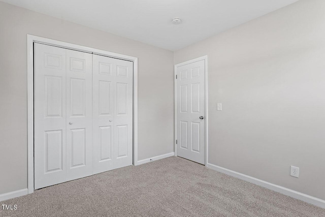
{"type": "Polygon", "coordinates": [[[34,192],[34,42],[133,62],[133,165],[138,163],[138,57],[27,34],[27,189],[34,192]]]}

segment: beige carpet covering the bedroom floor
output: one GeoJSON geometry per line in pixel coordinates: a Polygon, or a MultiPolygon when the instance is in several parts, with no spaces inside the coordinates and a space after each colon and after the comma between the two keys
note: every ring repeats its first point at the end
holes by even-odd
{"type": "Polygon", "coordinates": [[[170,157],[0,202],[0,216],[325,216],[325,209],[170,157]]]}

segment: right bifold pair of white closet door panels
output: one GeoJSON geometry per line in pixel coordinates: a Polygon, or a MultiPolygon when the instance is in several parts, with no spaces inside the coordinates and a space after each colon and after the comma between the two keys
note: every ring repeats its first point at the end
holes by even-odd
{"type": "Polygon", "coordinates": [[[133,63],[93,54],[93,172],[132,165],[133,63]]]}

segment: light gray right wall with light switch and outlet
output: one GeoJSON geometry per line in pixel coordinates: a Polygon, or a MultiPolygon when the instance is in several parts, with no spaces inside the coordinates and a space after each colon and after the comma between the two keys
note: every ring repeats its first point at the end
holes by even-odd
{"type": "Polygon", "coordinates": [[[208,55],[209,163],[325,199],[324,12],[302,0],[174,53],[208,55]]]}

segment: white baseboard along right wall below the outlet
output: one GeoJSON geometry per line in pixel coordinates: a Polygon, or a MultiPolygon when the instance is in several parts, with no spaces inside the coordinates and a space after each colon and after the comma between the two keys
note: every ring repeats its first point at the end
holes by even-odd
{"type": "Polygon", "coordinates": [[[315,197],[312,197],[312,196],[309,196],[309,195],[306,195],[306,194],[303,194],[303,193],[300,193],[300,192],[296,192],[294,190],[284,188],[284,187],[282,187],[280,185],[272,184],[270,182],[263,181],[261,179],[254,178],[254,177],[251,177],[251,176],[239,173],[239,172],[235,172],[233,170],[225,169],[223,167],[219,167],[219,166],[216,166],[214,164],[208,163],[207,167],[210,168],[210,169],[213,169],[215,171],[225,173],[227,175],[231,175],[231,176],[234,176],[236,178],[240,178],[242,180],[245,180],[245,181],[251,182],[253,184],[262,186],[264,188],[273,190],[275,192],[279,192],[279,193],[287,195],[289,197],[293,197],[293,198],[296,198],[298,200],[302,200],[302,201],[305,201],[307,203],[311,203],[311,204],[313,204],[315,206],[319,206],[321,208],[325,208],[325,200],[315,198],[315,197]]]}

